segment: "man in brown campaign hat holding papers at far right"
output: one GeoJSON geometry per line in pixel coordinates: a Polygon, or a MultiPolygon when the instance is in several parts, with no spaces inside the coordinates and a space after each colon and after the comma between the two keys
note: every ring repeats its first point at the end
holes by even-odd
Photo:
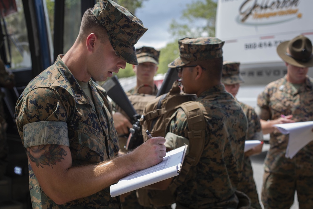
{"type": "Polygon", "coordinates": [[[270,133],[261,199],[265,209],[286,209],[297,191],[299,208],[312,208],[313,141],[292,159],[286,158],[289,135],[273,126],[313,120],[313,79],[307,76],[313,66],[312,43],[299,35],[279,44],[277,53],[285,61],[287,74],[269,83],[258,97],[262,130],[270,133]]]}

